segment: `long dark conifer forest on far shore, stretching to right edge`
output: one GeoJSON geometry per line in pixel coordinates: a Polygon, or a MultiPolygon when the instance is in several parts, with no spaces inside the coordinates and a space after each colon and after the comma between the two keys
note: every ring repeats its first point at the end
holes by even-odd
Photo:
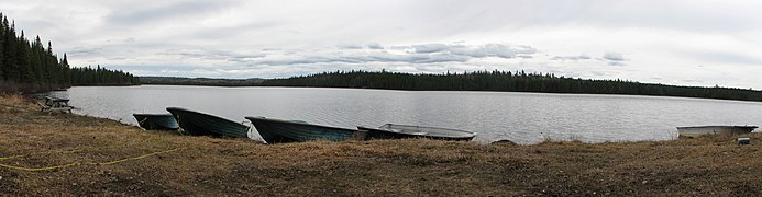
{"type": "Polygon", "coordinates": [[[335,71],[263,81],[264,86],[363,88],[416,91],[509,91],[581,94],[629,94],[762,101],[762,91],[733,88],[677,86],[625,80],[590,80],[524,71],[399,73],[335,71]]]}

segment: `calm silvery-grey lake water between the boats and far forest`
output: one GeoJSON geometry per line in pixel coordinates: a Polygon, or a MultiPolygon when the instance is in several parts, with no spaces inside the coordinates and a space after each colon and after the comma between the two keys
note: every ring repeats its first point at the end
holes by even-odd
{"type": "Polygon", "coordinates": [[[77,86],[51,94],[70,99],[82,108],[77,114],[132,125],[137,125],[133,113],[179,106],[235,121],[265,116],[346,128],[386,123],[457,128],[478,132],[479,142],[669,140],[677,126],[762,125],[759,102],[658,96],[172,85],[77,86]]]}

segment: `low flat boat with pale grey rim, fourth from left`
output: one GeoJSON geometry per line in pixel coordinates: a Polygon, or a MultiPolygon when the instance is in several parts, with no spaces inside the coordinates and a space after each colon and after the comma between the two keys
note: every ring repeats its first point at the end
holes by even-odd
{"type": "Polygon", "coordinates": [[[367,139],[430,138],[470,141],[476,137],[476,132],[472,131],[412,125],[386,124],[378,128],[357,126],[357,129],[367,131],[367,139]]]}

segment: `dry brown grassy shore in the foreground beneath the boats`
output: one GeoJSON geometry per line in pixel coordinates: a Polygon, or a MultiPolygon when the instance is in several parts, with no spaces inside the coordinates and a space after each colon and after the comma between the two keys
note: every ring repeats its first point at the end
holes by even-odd
{"type": "Polygon", "coordinates": [[[262,144],[37,112],[0,96],[0,195],[762,195],[762,134],[533,146],[262,144]]]}

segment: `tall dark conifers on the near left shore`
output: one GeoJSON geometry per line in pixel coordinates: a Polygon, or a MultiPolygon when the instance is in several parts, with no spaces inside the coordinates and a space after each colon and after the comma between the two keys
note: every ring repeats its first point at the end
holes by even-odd
{"type": "MultiPolygon", "coordinates": [[[[51,42],[43,46],[40,36],[34,40],[18,35],[15,22],[0,13],[0,92],[34,92],[66,89],[79,84],[124,84],[131,74],[106,69],[71,69],[66,54],[60,60],[51,42]],[[77,74],[77,79],[73,79],[77,74]],[[88,77],[97,76],[95,83],[88,77]],[[81,78],[80,78],[81,77],[81,78]],[[114,82],[118,81],[118,82],[114,82]]],[[[139,82],[130,79],[132,84],[139,82]]]]}

